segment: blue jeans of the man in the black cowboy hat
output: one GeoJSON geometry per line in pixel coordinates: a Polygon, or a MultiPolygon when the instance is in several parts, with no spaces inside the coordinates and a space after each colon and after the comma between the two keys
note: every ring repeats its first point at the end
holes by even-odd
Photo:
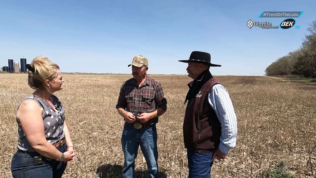
{"type": "Polygon", "coordinates": [[[187,150],[189,164],[189,178],[210,178],[211,162],[213,152],[198,153],[190,149],[187,150]]]}

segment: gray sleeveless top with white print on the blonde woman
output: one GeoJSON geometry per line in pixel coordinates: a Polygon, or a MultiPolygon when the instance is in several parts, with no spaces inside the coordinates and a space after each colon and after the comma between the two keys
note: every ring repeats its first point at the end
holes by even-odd
{"type": "MultiPolygon", "coordinates": [[[[63,131],[64,129],[64,120],[65,120],[65,109],[63,104],[58,100],[58,98],[55,95],[51,95],[53,99],[53,104],[57,108],[58,112],[56,112],[52,106],[45,100],[34,96],[29,95],[25,99],[21,101],[21,103],[27,99],[33,99],[36,101],[42,110],[42,118],[44,123],[44,129],[45,129],[45,137],[47,142],[49,143],[56,143],[59,141],[59,139],[63,139],[65,137],[65,133],[63,131]]],[[[21,103],[19,104],[18,108],[20,107],[21,103]]],[[[20,150],[34,150],[30,143],[28,143],[25,134],[23,132],[23,129],[21,127],[21,123],[16,120],[18,123],[18,133],[19,133],[19,143],[18,143],[18,149],[20,150]]]]}

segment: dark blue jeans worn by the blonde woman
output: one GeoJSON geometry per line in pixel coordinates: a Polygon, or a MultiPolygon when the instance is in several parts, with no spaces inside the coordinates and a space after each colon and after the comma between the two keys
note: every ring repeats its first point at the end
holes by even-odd
{"type": "MultiPolygon", "coordinates": [[[[60,152],[66,152],[67,146],[56,147],[60,152]]],[[[11,162],[11,173],[14,178],[61,178],[67,163],[42,156],[43,164],[34,166],[33,157],[40,156],[36,151],[17,150],[11,162]]]]}

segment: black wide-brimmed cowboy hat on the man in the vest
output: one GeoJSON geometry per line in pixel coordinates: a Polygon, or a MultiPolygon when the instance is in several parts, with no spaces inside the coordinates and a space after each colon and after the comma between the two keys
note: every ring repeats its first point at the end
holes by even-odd
{"type": "Polygon", "coordinates": [[[221,67],[221,65],[212,64],[211,63],[211,55],[209,53],[201,52],[201,51],[193,51],[190,55],[189,60],[179,60],[179,62],[197,62],[206,64],[212,67],[221,67]]]}

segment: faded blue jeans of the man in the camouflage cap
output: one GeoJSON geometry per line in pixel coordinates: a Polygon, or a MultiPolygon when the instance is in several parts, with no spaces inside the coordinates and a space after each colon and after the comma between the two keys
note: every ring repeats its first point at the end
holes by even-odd
{"type": "Polygon", "coordinates": [[[121,142],[125,159],[123,178],[135,177],[135,158],[139,145],[147,162],[149,177],[159,177],[156,124],[150,125],[149,128],[135,129],[125,122],[121,142]]]}

